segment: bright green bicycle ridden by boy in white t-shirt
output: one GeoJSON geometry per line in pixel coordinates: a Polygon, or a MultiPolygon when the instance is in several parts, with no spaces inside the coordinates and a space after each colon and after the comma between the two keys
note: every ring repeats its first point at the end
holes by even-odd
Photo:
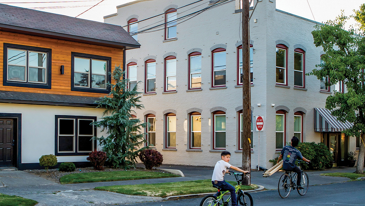
{"type": "MultiPolygon", "coordinates": [[[[247,192],[244,192],[243,190],[240,190],[241,182],[242,182],[242,176],[243,173],[236,173],[233,171],[229,171],[230,174],[233,173],[234,177],[236,178],[237,185],[234,187],[237,192],[237,203],[239,205],[243,206],[253,206],[253,199],[251,195],[247,192]],[[238,176],[241,176],[241,179],[238,178],[238,176]]],[[[246,175],[248,176],[248,175],[246,175]]],[[[228,202],[231,200],[231,196],[228,197],[226,200],[223,199],[223,196],[229,193],[229,191],[221,191],[222,188],[217,187],[213,185],[213,187],[217,188],[220,192],[220,195],[218,197],[215,197],[214,195],[207,195],[205,196],[201,202],[200,206],[228,206],[228,202]]]]}

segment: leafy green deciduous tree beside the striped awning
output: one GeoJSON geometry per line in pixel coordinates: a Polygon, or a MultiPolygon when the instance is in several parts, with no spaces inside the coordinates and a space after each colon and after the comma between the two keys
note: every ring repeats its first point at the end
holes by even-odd
{"type": "Polygon", "coordinates": [[[343,14],[334,21],[316,25],[312,31],[314,44],[323,47],[326,53],[323,62],[316,65],[307,75],[315,75],[318,79],[328,76],[326,86],[342,81],[347,88],[346,93],[334,92],[326,100],[326,108],[341,122],[346,120],[354,125],[344,131],[346,135],[361,137],[356,173],[363,173],[365,142],[365,4],[355,12],[360,30],[351,27],[345,30],[344,24],[349,17],[343,14]],[[362,35],[361,35],[362,34],[362,35]]]}

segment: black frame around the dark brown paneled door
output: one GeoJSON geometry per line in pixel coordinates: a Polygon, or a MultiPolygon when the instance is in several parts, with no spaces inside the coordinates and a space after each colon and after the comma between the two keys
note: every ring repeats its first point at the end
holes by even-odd
{"type": "Polygon", "coordinates": [[[22,114],[0,113],[0,118],[14,119],[14,167],[18,168],[22,163],[22,114]]]}

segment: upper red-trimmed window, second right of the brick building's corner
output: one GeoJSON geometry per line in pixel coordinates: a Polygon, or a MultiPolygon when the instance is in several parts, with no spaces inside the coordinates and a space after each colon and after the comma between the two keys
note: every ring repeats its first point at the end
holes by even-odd
{"type": "Polygon", "coordinates": [[[294,50],[294,86],[304,87],[304,56],[305,52],[301,49],[294,50]]]}

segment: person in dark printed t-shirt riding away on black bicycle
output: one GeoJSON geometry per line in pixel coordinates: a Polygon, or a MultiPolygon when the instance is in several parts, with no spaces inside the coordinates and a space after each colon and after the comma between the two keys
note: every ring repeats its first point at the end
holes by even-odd
{"type": "Polygon", "coordinates": [[[295,149],[295,147],[298,145],[299,143],[299,139],[295,136],[293,136],[292,140],[291,140],[291,144],[290,146],[284,146],[283,150],[281,150],[281,154],[277,159],[276,164],[279,163],[279,161],[281,160],[281,158],[283,158],[283,168],[285,170],[286,173],[288,173],[289,171],[293,171],[297,173],[297,190],[302,190],[304,189],[301,185],[301,169],[295,165],[295,161],[296,159],[302,159],[306,162],[310,162],[309,160],[307,160],[306,158],[304,158],[300,151],[295,149]]]}

